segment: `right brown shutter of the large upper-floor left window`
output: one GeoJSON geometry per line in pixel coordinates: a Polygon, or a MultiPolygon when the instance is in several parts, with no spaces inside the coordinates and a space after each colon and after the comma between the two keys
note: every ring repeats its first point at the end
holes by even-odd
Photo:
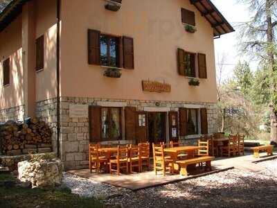
{"type": "Polygon", "coordinates": [[[123,67],[134,69],[134,39],[123,37],[123,67]]]}

